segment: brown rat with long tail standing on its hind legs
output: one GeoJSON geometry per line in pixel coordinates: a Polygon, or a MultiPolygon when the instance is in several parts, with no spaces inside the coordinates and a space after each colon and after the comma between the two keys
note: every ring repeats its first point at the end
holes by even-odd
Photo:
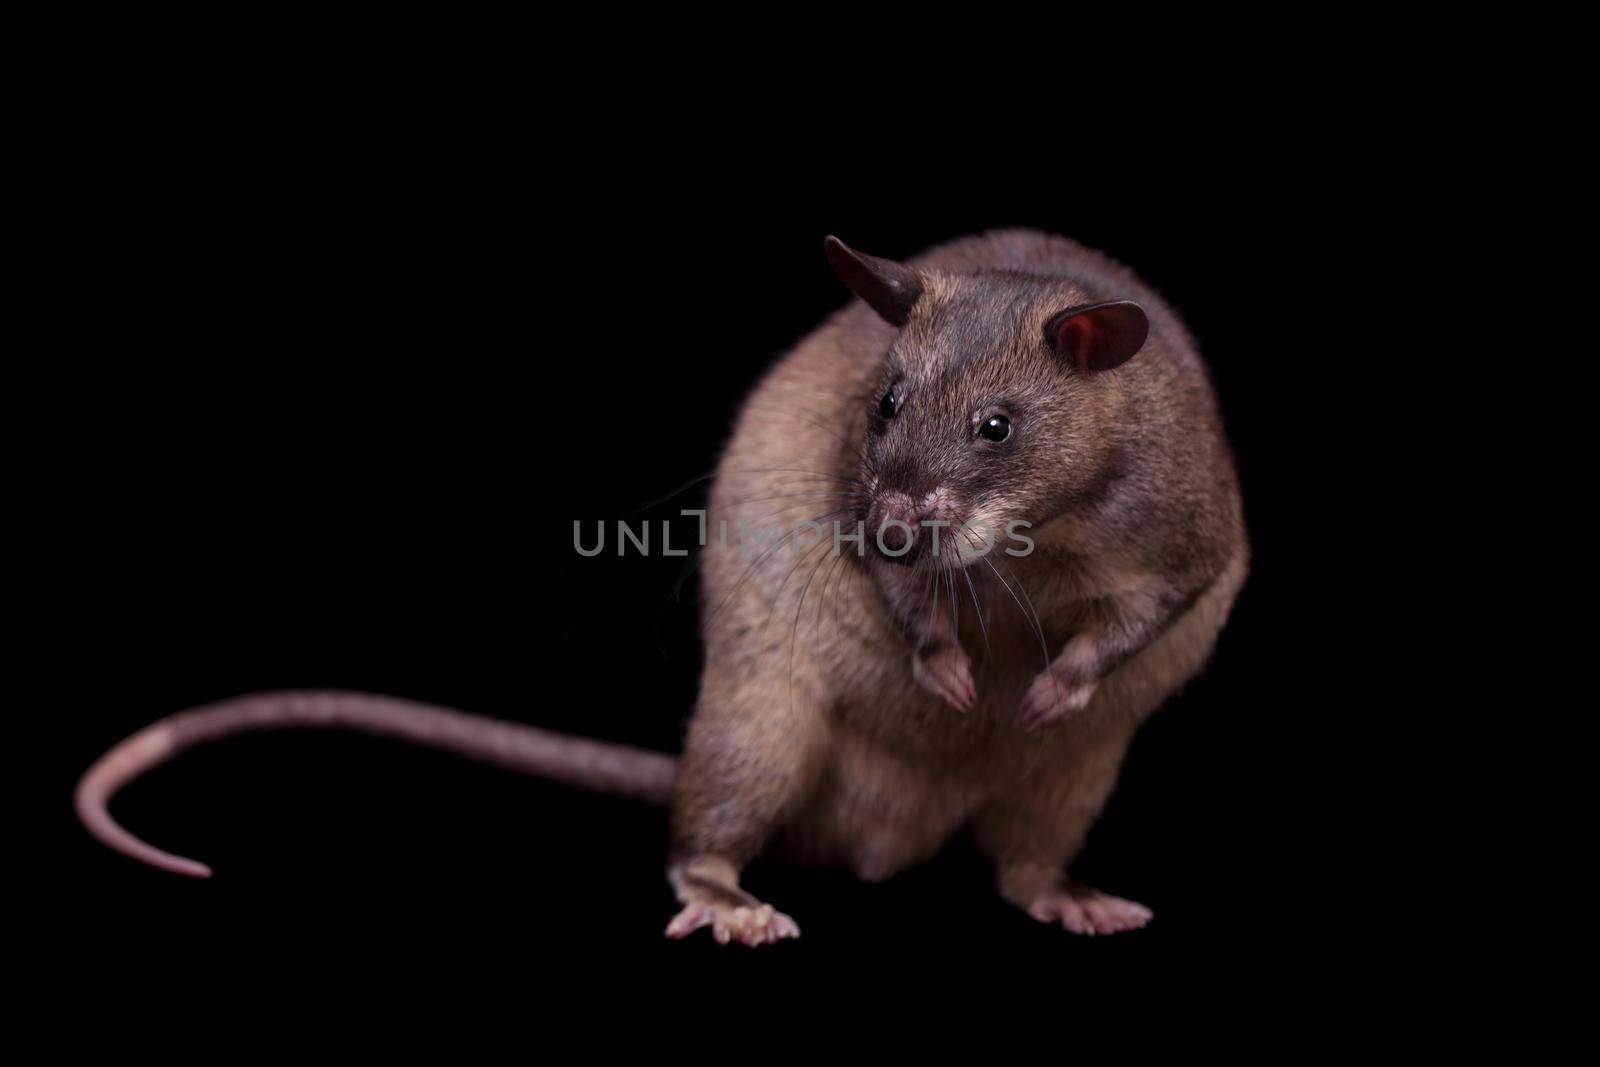
{"type": "Polygon", "coordinates": [[[114,747],[78,784],[83,824],[208,877],[120,827],[110,795],[213,737],[347,728],[670,805],[669,937],[798,937],[739,885],[760,854],[880,881],[958,835],[1038,921],[1149,923],[1067,867],[1248,573],[1197,346],[1131,270],[1064,237],[995,230],[907,262],[824,251],[859,301],[736,418],[701,520],[706,662],[680,757],[397,697],[259,693],[114,747]]]}

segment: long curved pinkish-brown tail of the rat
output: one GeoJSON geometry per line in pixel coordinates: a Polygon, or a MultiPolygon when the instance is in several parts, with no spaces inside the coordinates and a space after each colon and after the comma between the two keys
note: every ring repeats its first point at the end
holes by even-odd
{"type": "Polygon", "coordinates": [[[251,693],[168,715],[102,755],[78,781],[78,817],[90,833],[125,856],[190,878],[210,878],[211,869],[205,864],[163,853],[128,833],[106,811],[106,803],[118,789],[186,749],[250,729],[291,726],[400,737],[514,771],[651,803],[667,801],[677,769],[677,760],[661,752],[554,734],[392,696],[336,689],[251,693]]]}

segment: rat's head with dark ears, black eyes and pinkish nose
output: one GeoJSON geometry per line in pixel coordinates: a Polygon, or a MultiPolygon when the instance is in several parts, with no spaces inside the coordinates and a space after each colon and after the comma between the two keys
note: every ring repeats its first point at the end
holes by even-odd
{"type": "Polygon", "coordinates": [[[1106,373],[1144,344],[1138,304],[1088,304],[1043,275],[915,270],[834,237],[827,259],[899,330],[861,448],[869,552],[968,565],[1106,483],[1106,373]]]}

